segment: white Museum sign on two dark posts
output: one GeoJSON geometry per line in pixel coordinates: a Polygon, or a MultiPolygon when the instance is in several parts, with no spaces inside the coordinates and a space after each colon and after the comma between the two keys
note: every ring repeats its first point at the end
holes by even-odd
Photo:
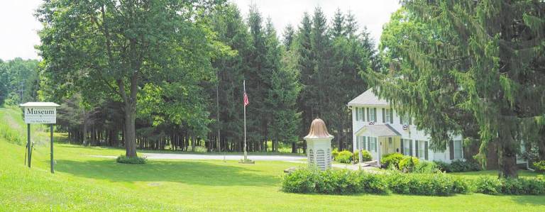
{"type": "Polygon", "coordinates": [[[50,124],[51,135],[51,173],[55,173],[53,161],[53,124],[57,123],[57,107],[60,106],[53,102],[27,102],[21,104],[25,113],[25,123],[27,128],[26,150],[28,155],[28,167],[31,167],[32,143],[31,143],[31,123],[50,124]]]}

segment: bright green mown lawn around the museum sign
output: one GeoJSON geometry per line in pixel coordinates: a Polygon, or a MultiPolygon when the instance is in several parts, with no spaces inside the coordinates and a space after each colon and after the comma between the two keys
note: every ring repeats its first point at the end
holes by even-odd
{"type": "MultiPolygon", "coordinates": [[[[6,113],[18,111],[0,110],[0,121],[6,113]]],[[[545,196],[285,194],[278,190],[282,170],[299,164],[117,164],[86,155],[123,150],[68,144],[55,144],[56,173],[50,174],[45,141],[35,140],[40,145],[28,169],[25,148],[0,136],[0,211],[545,211],[545,196]]]]}

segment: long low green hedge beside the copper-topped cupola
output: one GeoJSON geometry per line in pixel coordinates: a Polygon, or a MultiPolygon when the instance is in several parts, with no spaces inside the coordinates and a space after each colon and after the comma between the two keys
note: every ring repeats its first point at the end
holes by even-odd
{"type": "Polygon", "coordinates": [[[373,174],[363,171],[297,169],[282,177],[281,189],[290,193],[317,194],[415,194],[448,196],[451,194],[545,194],[545,179],[495,177],[465,178],[438,172],[434,174],[373,174]]]}

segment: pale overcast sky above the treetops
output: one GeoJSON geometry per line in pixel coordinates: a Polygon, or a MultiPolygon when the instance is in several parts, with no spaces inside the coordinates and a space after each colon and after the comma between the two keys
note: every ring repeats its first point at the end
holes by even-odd
{"type": "MultiPolygon", "coordinates": [[[[390,14],[400,8],[399,0],[230,0],[235,2],[244,16],[250,4],[256,4],[265,18],[272,18],[275,28],[282,35],[288,24],[297,27],[303,13],[311,13],[320,6],[329,21],[336,9],[343,13],[350,10],[356,15],[360,28],[367,26],[371,36],[377,41],[382,33],[382,25],[390,19],[390,14]]],[[[40,43],[36,31],[41,25],[33,16],[40,0],[0,0],[0,59],[12,60],[38,58],[34,45],[40,43]]]]}

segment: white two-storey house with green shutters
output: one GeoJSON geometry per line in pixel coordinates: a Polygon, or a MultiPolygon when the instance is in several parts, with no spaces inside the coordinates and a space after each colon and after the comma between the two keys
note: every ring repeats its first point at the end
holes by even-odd
{"type": "Polygon", "coordinates": [[[429,148],[429,135],[412,125],[412,118],[400,117],[387,101],[372,89],[348,102],[352,111],[353,150],[368,150],[373,160],[400,152],[419,160],[451,162],[463,159],[462,137],[453,136],[444,152],[429,148]]]}

